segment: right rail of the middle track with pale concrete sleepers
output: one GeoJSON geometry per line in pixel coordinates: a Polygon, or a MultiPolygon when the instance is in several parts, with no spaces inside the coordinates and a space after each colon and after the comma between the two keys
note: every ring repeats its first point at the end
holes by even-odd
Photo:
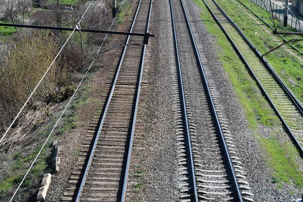
{"type": "Polygon", "coordinates": [[[201,60],[200,60],[198,49],[197,49],[192,31],[191,31],[191,27],[190,27],[190,24],[189,24],[189,20],[187,18],[187,14],[186,14],[186,11],[185,11],[183,1],[180,0],[180,2],[181,2],[181,5],[182,5],[182,10],[183,10],[186,25],[187,25],[187,28],[188,28],[188,31],[189,31],[190,39],[191,39],[191,42],[193,44],[193,49],[194,49],[194,53],[195,53],[195,56],[196,56],[196,60],[198,62],[198,66],[199,66],[200,71],[202,73],[202,75],[201,75],[202,78],[201,79],[205,82],[207,92],[208,92],[208,96],[210,97],[210,101],[211,101],[211,104],[212,104],[212,111],[215,115],[216,124],[217,124],[217,127],[218,127],[219,132],[220,132],[220,137],[221,137],[222,143],[224,145],[225,156],[228,160],[228,168],[229,168],[229,170],[232,174],[232,183],[234,185],[235,195],[236,195],[237,201],[242,202],[243,200],[242,200],[241,192],[239,190],[237,179],[236,179],[236,176],[235,176],[235,173],[234,173],[234,170],[233,170],[233,167],[232,167],[232,163],[231,163],[231,160],[230,160],[230,157],[229,157],[228,149],[227,149],[226,142],[225,142],[225,139],[224,139],[224,136],[223,136],[223,132],[222,132],[222,129],[221,129],[221,126],[220,126],[220,122],[219,122],[219,118],[218,118],[218,115],[217,115],[217,112],[216,112],[216,108],[215,108],[215,105],[214,105],[214,102],[213,102],[212,94],[211,94],[211,91],[210,91],[210,88],[209,88],[209,85],[208,85],[208,82],[207,82],[207,79],[206,79],[204,68],[203,68],[203,65],[202,65],[201,60]]]}

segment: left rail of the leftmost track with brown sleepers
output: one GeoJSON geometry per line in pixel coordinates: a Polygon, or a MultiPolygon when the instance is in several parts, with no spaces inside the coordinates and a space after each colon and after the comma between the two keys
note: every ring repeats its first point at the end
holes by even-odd
{"type": "MultiPolygon", "coordinates": [[[[137,9],[136,9],[136,14],[135,14],[135,16],[134,16],[134,18],[133,18],[133,20],[132,20],[130,32],[131,32],[132,29],[133,29],[133,26],[134,26],[135,19],[136,19],[137,14],[138,14],[138,10],[139,10],[140,4],[141,4],[141,0],[139,0],[139,4],[138,4],[137,9]]],[[[127,39],[126,39],[126,44],[128,43],[129,38],[130,38],[130,36],[128,35],[128,36],[127,36],[127,39]]],[[[83,174],[83,178],[82,178],[82,180],[81,180],[81,184],[80,184],[80,187],[79,187],[79,190],[78,190],[78,193],[77,193],[77,197],[76,197],[76,200],[75,200],[76,202],[78,202],[78,201],[80,200],[81,193],[82,193],[83,187],[84,187],[84,185],[85,185],[86,176],[87,176],[89,167],[90,167],[91,162],[92,162],[92,158],[93,158],[93,155],[94,155],[94,150],[95,150],[95,148],[96,148],[96,145],[97,145],[97,142],[98,142],[98,138],[99,138],[100,132],[101,132],[101,130],[102,130],[102,128],[103,128],[103,123],[104,123],[104,120],[105,120],[105,116],[106,116],[107,110],[108,110],[108,108],[109,108],[109,105],[110,105],[110,102],[111,102],[111,99],[112,99],[112,96],[113,96],[113,93],[114,93],[114,89],[115,89],[115,87],[116,87],[116,82],[117,82],[117,79],[118,79],[118,76],[119,76],[119,72],[120,72],[120,69],[121,69],[121,66],[122,66],[122,61],[123,61],[124,56],[125,56],[126,47],[127,47],[127,46],[124,46],[124,47],[123,47],[123,54],[122,54],[121,59],[120,59],[120,61],[119,61],[119,67],[118,67],[118,69],[117,69],[117,73],[116,73],[116,76],[115,76],[115,80],[114,80],[114,82],[113,82],[113,85],[112,85],[112,89],[111,89],[109,98],[108,98],[108,100],[107,100],[107,104],[106,104],[106,107],[105,107],[105,110],[104,110],[104,113],[103,113],[103,116],[102,116],[102,119],[101,119],[101,122],[100,122],[100,126],[99,126],[99,128],[98,128],[98,132],[97,132],[97,134],[96,134],[96,137],[95,137],[93,146],[92,146],[92,148],[91,148],[91,153],[90,153],[90,156],[89,156],[89,159],[88,159],[88,162],[87,162],[87,165],[86,165],[84,174],[83,174]]]]}

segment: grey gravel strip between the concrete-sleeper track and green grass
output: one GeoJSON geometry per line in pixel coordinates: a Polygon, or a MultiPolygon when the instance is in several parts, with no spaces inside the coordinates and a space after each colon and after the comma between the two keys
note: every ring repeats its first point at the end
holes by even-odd
{"type": "MultiPolygon", "coordinates": [[[[238,103],[235,92],[228,80],[228,75],[218,61],[213,44],[215,39],[207,33],[204,24],[199,19],[199,8],[192,1],[183,1],[187,15],[191,24],[191,29],[197,43],[198,51],[204,57],[201,57],[206,76],[210,87],[216,89],[221,95],[218,97],[219,105],[222,106],[222,112],[225,114],[229,126],[229,131],[234,138],[234,149],[242,162],[245,176],[250,184],[255,201],[293,201],[300,197],[297,187],[292,185],[283,185],[281,189],[276,188],[272,180],[271,170],[264,160],[265,151],[258,144],[258,140],[247,127],[242,107],[238,103]],[[290,192],[293,191],[291,195],[290,192]]],[[[200,56],[201,56],[200,55],[200,56]]],[[[261,91],[260,91],[261,93],[261,91]]],[[[278,127],[281,141],[290,141],[288,135],[284,132],[282,126],[278,127]]],[[[272,129],[259,125],[258,133],[268,137],[272,129]]],[[[301,159],[298,159],[301,163],[301,159]]]]}

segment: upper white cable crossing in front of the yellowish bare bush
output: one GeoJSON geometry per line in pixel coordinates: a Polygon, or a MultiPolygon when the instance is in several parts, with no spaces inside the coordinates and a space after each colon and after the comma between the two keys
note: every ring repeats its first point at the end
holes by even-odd
{"type": "MultiPolygon", "coordinates": [[[[81,17],[81,19],[79,20],[78,24],[83,20],[84,15],[86,14],[88,8],[89,8],[90,4],[88,5],[85,13],[83,14],[83,16],[81,17]]],[[[6,130],[6,132],[4,133],[4,135],[2,136],[2,138],[0,139],[0,143],[3,141],[3,139],[5,138],[5,136],[8,134],[9,130],[12,128],[13,124],[16,122],[17,118],[19,117],[19,115],[21,114],[21,112],[23,111],[23,109],[25,108],[26,104],[28,103],[29,99],[32,97],[32,95],[34,94],[34,92],[36,91],[36,89],[38,88],[38,86],[40,85],[40,83],[42,82],[43,78],[45,77],[45,75],[47,74],[47,72],[49,71],[49,69],[51,69],[51,67],[53,66],[53,64],[55,63],[55,61],[57,60],[57,58],[59,57],[60,53],[62,52],[64,46],[66,45],[66,43],[69,41],[69,39],[71,38],[71,36],[73,35],[73,33],[75,32],[76,27],[74,28],[74,30],[72,31],[72,33],[70,34],[70,36],[68,37],[68,39],[66,40],[66,42],[64,43],[64,45],[62,46],[62,48],[60,49],[59,53],[57,54],[56,58],[53,60],[52,64],[49,65],[49,67],[47,68],[46,72],[44,73],[44,75],[42,76],[42,78],[40,79],[40,81],[38,82],[38,84],[36,85],[36,87],[34,88],[34,90],[31,92],[31,94],[29,95],[28,99],[26,100],[26,102],[24,103],[24,105],[22,106],[21,110],[19,111],[19,113],[17,114],[17,116],[15,117],[15,119],[13,120],[13,122],[11,123],[11,125],[9,126],[9,128],[6,130]]]]}

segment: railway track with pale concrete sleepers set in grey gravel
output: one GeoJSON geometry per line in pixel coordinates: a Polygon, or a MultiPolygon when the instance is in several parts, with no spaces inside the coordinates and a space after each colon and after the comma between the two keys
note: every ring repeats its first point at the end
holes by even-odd
{"type": "Polygon", "coordinates": [[[254,201],[216,99],[219,95],[208,86],[183,2],[170,1],[170,7],[176,59],[173,77],[180,199],[254,201]],[[192,87],[193,82],[198,82],[197,88],[192,87]],[[197,99],[193,91],[204,98],[197,99]],[[195,109],[202,106],[205,114],[197,114],[195,109]]]}

